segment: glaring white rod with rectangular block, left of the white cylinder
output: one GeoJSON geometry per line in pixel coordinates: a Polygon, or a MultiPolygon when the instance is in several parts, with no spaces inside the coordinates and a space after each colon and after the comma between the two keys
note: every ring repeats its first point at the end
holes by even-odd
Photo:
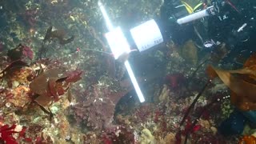
{"type": "MultiPolygon", "coordinates": [[[[128,44],[124,34],[122,33],[122,30],[120,27],[114,28],[114,26],[110,22],[110,18],[108,17],[106,10],[104,6],[102,5],[101,1],[98,1],[98,6],[100,10],[102,11],[103,18],[106,21],[107,29],[110,31],[106,34],[107,42],[110,45],[110,49],[112,53],[114,54],[114,58],[118,59],[120,55],[122,54],[129,54],[130,53],[130,45],[128,44]]],[[[145,98],[142,94],[142,90],[138,86],[138,82],[134,76],[134,72],[131,69],[130,63],[128,60],[125,61],[126,70],[130,76],[130,80],[134,85],[134,89],[138,95],[138,99],[140,102],[145,102],[145,98]]]]}

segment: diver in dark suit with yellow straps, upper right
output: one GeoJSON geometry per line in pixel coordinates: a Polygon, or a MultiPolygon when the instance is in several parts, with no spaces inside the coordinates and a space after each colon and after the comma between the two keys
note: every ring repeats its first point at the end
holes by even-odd
{"type": "Polygon", "coordinates": [[[224,42],[230,50],[251,50],[255,44],[255,10],[254,0],[165,0],[160,25],[164,39],[171,38],[177,44],[192,39],[199,48],[212,48],[224,42]],[[209,6],[214,6],[214,15],[182,25],[177,23],[178,18],[209,6]]]}

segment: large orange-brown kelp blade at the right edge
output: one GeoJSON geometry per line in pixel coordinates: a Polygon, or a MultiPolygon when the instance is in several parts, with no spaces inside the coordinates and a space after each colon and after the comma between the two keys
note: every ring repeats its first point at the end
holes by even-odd
{"type": "Polygon", "coordinates": [[[213,66],[207,69],[211,78],[220,78],[230,88],[230,101],[234,106],[240,110],[256,110],[256,54],[252,54],[240,70],[218,70],[213,66]]]}

